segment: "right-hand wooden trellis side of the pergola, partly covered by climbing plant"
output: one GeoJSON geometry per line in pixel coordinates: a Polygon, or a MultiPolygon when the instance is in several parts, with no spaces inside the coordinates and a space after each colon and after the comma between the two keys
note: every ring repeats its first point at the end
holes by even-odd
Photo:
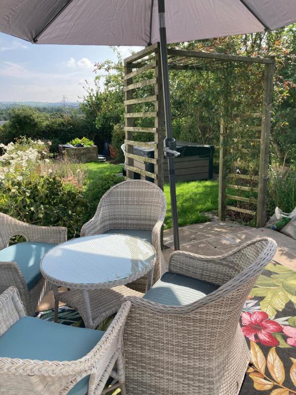
{"type": "MultiPolygon", "coordinates": [[[[230,141],[227,128],[223,120],[220,125],[220,165],[219,165],[219,220],[225,220],[225,210],[238,211],[252,216],[256,216],[256,226],[262,227],[266,223],[266,196],[267,180],[269,166],[269,145],[270,145],[270,128],[271,128],[271,99],[272,99],[272,79],[274,64],[267,63],[264,65],[264,94],[262,112],[250,114],[254,119],[260,120],[261,124],[251,125],[246,129],[246,138],[233,138],[230,141]],[[248,132],[252,136],[248,136],[248,132]],[[238,144],[243,143],[244,148],[240,154],[246,156],[257,152],[257,175],[253,174],[236,174],[234,165],[227,163],[231,149],[238,150],[238,144]],[[235,148],[231,148],[231,146],[235,148]],[[228,171],[232,171],[231,173],[228,171]],[[242,185],[242,180],[245,184],[242,185]],[[227,193],[227,189],[233,192],[227,193]],[[236,191],[247,192],[248,196],[237,196],[236,191]],[[255,195],[254,195],[255,193],[255,195]],[[229,201],[235,201],[236,205],[228,204],[229,201]],[[251,208],[248,207],[251,204],[251,208]],[[255,207],[255,208],[254,208],[255,207]]],[[[238,164],[239,165],[239,164],[238,164]]]]}

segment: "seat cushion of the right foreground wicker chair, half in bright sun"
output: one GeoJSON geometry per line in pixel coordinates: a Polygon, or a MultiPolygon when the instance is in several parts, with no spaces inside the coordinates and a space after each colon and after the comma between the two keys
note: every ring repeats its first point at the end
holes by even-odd
{"type": "Polygon", "coordinates": [[[175,273],[164,275],[145,293],[143,299],[166,304],[167,306],[184,306],[217,290],[218,285],[196,280],[175,273]]]}

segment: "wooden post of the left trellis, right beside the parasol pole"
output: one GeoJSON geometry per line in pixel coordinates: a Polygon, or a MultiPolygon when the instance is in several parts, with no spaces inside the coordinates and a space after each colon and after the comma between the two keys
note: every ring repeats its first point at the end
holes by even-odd
{"type": "Polygon", "coordinates": [[[154,126],[156,133],[154,134],[154,141],[157,144],[154,157],[157,159],[157,169],[154,173],[157,174],[157,185],[163,190],[163,140],[165,135],[165,120],[164,120],[164,102],[163,102],[163,88],[162,88],[162,74],[161,74],[161,60],[160,60],[160,47],[156,49],[156,66],[155,66],[155,78],[157,82],[155,84],[155,95],[157,97],[154,105],[154,111],[156,117],[154,120],[154,126]]]}

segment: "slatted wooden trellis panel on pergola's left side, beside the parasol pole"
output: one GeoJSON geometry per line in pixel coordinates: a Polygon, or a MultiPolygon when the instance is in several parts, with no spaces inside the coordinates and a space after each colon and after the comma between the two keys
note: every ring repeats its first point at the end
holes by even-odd
{"type": "Polygon", "coordinates": [[[143,49],[135,55],[124,60],[125,66],[125,87],[124,87],[124,106],[125,106],[125,147],[126,147],[126,175],[134,178],[134,173],[141,175],[141,178],[149,177],[163,188],[163,139],[164,139],[164,109],[161,81],[161,63],[159,45],[155,44],[143,49]],[[145,72],[153,71],[153,78],[145,79],[145,72]],[[139,94],[143,87],[152,86],[152,94],[149,96],[143,92],[139,94]],[[135,105],[151,103],[153,111],[136,112],[135,105]],[[154,127],[144,127],[136,125],[138,119],[151,119],[154,127]],[[151,136],[147,143],[135,141],[135,133],[151,136]],[[154,148],[154,158],[146,158],[134,154],[134,147],[154,148]],[[154,171],[146,171],[145,165],[154,165],[154,171]]]}

